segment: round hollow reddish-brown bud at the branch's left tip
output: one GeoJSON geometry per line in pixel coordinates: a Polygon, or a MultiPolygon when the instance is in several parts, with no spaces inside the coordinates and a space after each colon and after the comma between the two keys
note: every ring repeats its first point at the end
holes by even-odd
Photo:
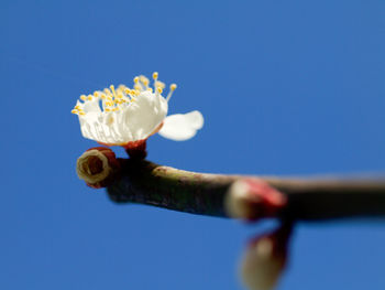
{"type": "Polygon", "coordinates": [[[88,149],[77,160],[76,173],[94,189],[110,185],[119,175],[120,163],[113,151],[106,147],[88,149]]]}

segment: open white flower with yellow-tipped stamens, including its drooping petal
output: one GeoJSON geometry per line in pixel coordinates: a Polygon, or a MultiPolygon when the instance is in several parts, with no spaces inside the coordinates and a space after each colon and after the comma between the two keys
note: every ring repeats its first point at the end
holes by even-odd
{"type": "Polygon", "coordinates": [[[156,132],[176,141],[193,138],[204,126],[202,115],[195,110],[166,117],[176,85],[169,86],[164,98],[165,84],[157,80],[157,73],[153,78],[154,88],[141,75],[134,78],[133,88],[111,85],[94,95],[80,96],[82,101],[78,100],[72,112],[79,116],[81,135],[107,146],[128,146],[156,132]]]}

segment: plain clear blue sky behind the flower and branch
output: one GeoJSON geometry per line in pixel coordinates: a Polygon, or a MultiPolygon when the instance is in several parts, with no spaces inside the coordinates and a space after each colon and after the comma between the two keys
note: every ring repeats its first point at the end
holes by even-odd
{"type": "MultiPolygon", "coordinates": [[[[384,1],[0,3],[1,289],[242,289],[248,238],[272,226],[116,205],[75,173],[80,94],[160,72],[187,142],[148,159],[244,174],[385,171],[384,1]]],[[[121,149],[116,150],[123,155],[121,149]]],[[[285,289],[383,289],[382,221],[299,224],[285,289]]]]}

